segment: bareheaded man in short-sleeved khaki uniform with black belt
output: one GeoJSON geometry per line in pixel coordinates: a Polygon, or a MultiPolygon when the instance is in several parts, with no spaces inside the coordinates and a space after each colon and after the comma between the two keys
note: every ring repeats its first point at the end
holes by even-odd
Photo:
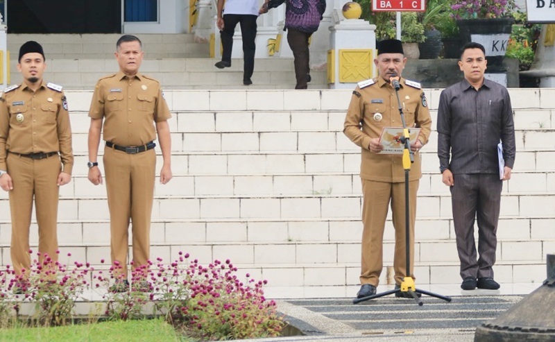
{"type": "Polygon", "coordinates": [[[139,38],[123,35],[116,44],[119,72],[101,78],[94,88],[89,117],[89,180],[102,183],[97,157],[101,130],[103,164],[110,209],[112,264],[119,264],[114,291],[126,291],[128,228],[132,222],[133,270],[148,264],[158,135],[164,165],[160,182],[171,180],[171,117],[160,83],[139,73],[144,51],[139,38]],[[104,121],[104,122],[103,122],[104,121]],[[155,125],[154,125],[155,123],[155,125]]]}

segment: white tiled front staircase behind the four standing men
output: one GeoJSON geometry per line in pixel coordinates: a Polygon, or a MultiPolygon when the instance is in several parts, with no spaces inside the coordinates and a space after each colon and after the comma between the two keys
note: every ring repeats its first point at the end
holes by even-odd
{"type": "MultiPolygon", "coordinates": [[[[426,90],[434,128],[440,92],[426,90]]],[[[502,193],[495,277],[541,282],[545,255],[555,250],[555,89],[510,93],[517,158],[502,193]]],[[[60,189],[60,249],[102,268],[100,259],[110,257],[108,205],[105,187],[89,183],[85,166],[92,92],[66,94],[76,166],[72,182],[60,189]]],[[[352,296],[362,200],[360,151],[342,132],[350,96],[350,90],[165,92],[173,113],[174,178],[155,186],[151,257],[169,262],[182,250],[204,264],[231,259],[268,280],[274,297],[352,296]]],[[[422,171],[417,284],[458,283],[450,192],[438,172],[435,132],[422,149],[422,171]]],[[[2,191],[1,266],[10,264],[7,198],[2,191]]],[[[31,231],[36,246],[35,223],[31,231]]],[[[391,218],[384,239],[384,266],[391,266],[391,218]]],[[[386,270],[381,282],[391,282],[386,270]]]]}

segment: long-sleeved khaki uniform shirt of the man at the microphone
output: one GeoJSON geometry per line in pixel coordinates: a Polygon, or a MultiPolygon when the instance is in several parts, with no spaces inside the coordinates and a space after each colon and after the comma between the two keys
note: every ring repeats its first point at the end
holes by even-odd
{"type": "MultiPolygon", "coordinates": [[[[407,128],[421,128],[418,139],[426,144],[432,118],[420,83],[401,78],[400,87],[399,99],[407,128]]],[[[382,77],[359,83],[352,94],[343,132],[362,148],[360,176],[379,182],[404,182],[402,155],[370,153],[370,139],[379,138],[384,127],[402,127],[395,89],[382,77]],[[382,114],[381,120],[375,119],[376,113],[382,114]]],[[[420,153],[415,153],[409,180],[421,177],[420,153]]]]}

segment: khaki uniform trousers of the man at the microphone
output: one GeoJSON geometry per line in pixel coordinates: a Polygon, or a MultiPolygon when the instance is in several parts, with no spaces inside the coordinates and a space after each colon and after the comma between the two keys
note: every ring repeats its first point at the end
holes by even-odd
{"type": "MultiPolygon", "coordinates": [[[[416,192],[419,180],[409,181],[409,216],[411,240],[411,271],[414,269],[414,221],[416,219],[416,192]]],[[[395,255],[393,268],[395,270],[395,283],[400,285],[407,275],[407,253],[405,250],[405,208],[404,208],[404,182],[376,182],[362,180],[362,193],[364,205],[362,208],[362,262],[361,284],[379,284],[379,275],[383,268],[383,241],[384,229],[389,202],[391,199],[391,212],[393,214],[393,227],[395,228],[395,255]]],[[[411,275],[413,277],[413,275],[411,275]]]]}

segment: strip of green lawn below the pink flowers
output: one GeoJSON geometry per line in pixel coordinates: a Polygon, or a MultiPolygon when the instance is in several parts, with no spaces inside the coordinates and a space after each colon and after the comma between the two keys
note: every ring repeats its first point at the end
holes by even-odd
{"type": "Polygon", "coordinates": [[[189,342],[164,320],[129,320],[64,327],[14,327],[0,329],[0,341],[14,342],[189,342]]]}

